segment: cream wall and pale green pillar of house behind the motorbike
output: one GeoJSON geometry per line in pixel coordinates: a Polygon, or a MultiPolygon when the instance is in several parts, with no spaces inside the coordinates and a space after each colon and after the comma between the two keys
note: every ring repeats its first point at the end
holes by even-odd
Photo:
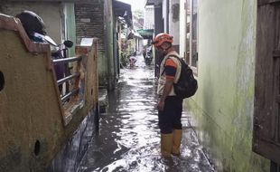
{"type": "MultiPolygon", "coordinates": [[[[9,0],[0,2],[0,13],[15,16],[23,10],[39,14],[46,26],[46,32],[56,43],[71,40],[76,44],[76,26],[74,2],[64,0],[9,0]]],[[[69,55],[74,56],[75,48],[70,48],[69,55]]]]}

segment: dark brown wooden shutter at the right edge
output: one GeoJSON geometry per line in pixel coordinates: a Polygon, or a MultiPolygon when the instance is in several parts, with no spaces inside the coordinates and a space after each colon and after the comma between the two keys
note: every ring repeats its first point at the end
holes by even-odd
{"type": "Polygon", "coordinates": [[[257,2],[253,151],[280,163],[280,0],[257,2]]]}

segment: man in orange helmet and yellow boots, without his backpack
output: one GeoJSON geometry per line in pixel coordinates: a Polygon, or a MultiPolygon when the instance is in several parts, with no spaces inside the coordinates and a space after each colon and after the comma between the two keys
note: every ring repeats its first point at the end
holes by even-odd
{"type": "Polygon", "coordinates": [[[173,48],[172,35],[159,33],[154,37],[153,44],[156,50],[164,54],[157,87],[157,108],[161,153],[163,157],[169,157],[180,154],[182,140],[182,99],[176,96],[173,89],[173,83],[180,78],[181,62],[176,58],[179,54],[173,48]]]}

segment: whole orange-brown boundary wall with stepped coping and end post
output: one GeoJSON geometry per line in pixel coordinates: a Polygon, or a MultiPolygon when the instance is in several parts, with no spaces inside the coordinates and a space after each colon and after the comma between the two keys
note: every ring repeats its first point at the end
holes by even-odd
{"type": "Polygon", "coordinates": [[[6,15],[0,15],[0,37],[0,73],[5,82],[0,91],[0,171],[47,171],[82,119],[97,110],[96,43],[82,60],[86,70],[79,81],[84,84],[79,100],[84,104],[70,100],[66,107],[50,46],[31,42],[23,26],[6,15]],[[79,109],[72,109],[78,104],[79,109]]]}

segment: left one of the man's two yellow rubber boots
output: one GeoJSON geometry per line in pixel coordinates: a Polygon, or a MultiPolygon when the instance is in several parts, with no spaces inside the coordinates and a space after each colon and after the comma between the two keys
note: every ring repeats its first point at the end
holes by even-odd
{"type": "Polygon", "coordinates": [[[161,134],[161,153],[163,157],[170,157],[173,149],[173,133],[161,134]]]}

